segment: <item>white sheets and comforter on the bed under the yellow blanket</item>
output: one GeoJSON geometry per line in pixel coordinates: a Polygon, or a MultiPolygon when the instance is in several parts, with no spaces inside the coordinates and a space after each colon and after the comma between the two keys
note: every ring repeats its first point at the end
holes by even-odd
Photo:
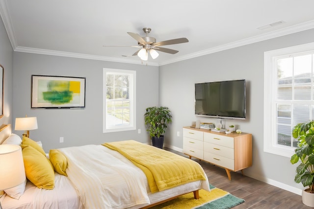
{"type": "MultiPolygon", "coordinates": [[[[166,199],[169,199],[173,196],[178,196],[183,193],[192,192],[197,189],[205,189],[209,191],[209,182],[207,181],[197,181],[188,183],[182,186],[178,186],[172,189],[167,189],[162,192],[151,193],[145,174],[136,167],[129,160],[124,158],[118,152],[113,151],[111,149],[106,148],[102,145],[86,145],[81,147],[74,148],[78,152],[75,153],[73,151],[73,147],[71,148],[62,148],[59,149],[62,153],[67,155],[68,159],[68,169],[67,173],[68,177],[59,175],[55,173],[55,188],[52,190],[40,189],[27,182],[26,191],[24,195],[20,198],[20,200],[15,200],[10,198],[7,195],[3,195],[1,198],[1,205],[3,209],[42,209],[42,208],[50,208],[50,209],[83,209],[83,204],[95,204],[95,199],[88,201],[86,198],[91,196],[93,198],[97,198],[97,196],[102,196],[101,199],[105,198],[110,201],[110,203],[106,203],[100,208],[130,208],[130,209],[138,209],[144,207],[146,205],[150,205],[153,203],[157,203],[166,199]],[[89,154],[86,152],[92,151],[95,157],[88,157],[89,154]],[[101,154],[102,156],[100,156],[101,154]],[[72,159],[75,157],[76,160],[72,159]],[[96,157],[98,156],[98,157],[96,157]],[[93,160],[91,160],[91,159],[93,160]],[[92,163],[91,163],[92,162],[92,163]],[[115,166],[111,166],[110,168],[105,168],[102,170],[99,167],[101,165],[107,165],[109,162],[113,162],[115,166]],[[89,165],[87,166],[86,165],[89,165]],[[76,167],[78,165],[78,172],[76,167]],[[121,168],[121,169],[120,169],[121,168]],[[131,174],[130,171],[134,171],[137,177],[134,174],[131,174]],[[73,173],[78,172],[78,173],[73,173]],[[99,173],[97,175],[95,173],[99,173]],[[109,174],[114,174],[114,176],[110,176],[109,174]],[[78,175],[76,175],[78,174],[78,175]],[[82,174],[82,175],[80,175],[82,174]],[[95,176],[96,175],[96,176],[95,176]],[[73,180],[76,183],[70,181],[71,177],[76,176],[73,180]],[[96,183],[95,186],[92,186],[91,183],[86,180],[82,180],[80,178],[88,176],[92,179],[92,182],[96,183]],[[127,177],[127,178],[126,178],[127,177]],[[128,180],[130,179],[131,182],[128,180]],[[99,181],[103,181],[103,183],[99,183],[99,181]],[[135,181],[132,183],[132,181],[135,181]],[[129,182],[129,183],[128,183],[129,182]],[[86,183],[86,184],[81,184],[86,183]],[[140,184],[139,184],[140,183],[140,184]],[[85,188],[87,190],[83,190],[78,192],[74,185],[78,187],[85,188]],[[133,186],[138,186],[136,191],[136,195],[131,195],[126,190],[134,190],[133,186]],[[88,188],[89,186],[89,188],[88,188]],[[144,186],[144,187],[143,187],[144,186]],[[96,189],[98,188],[98,189],[96,189]],[[105,190],[104,195],[100,195],[101,191],[99,188],[103,188],[105,190]],[[120,188],[120,190],[116,190],[120,188]],[[123,189],[121,189],[123,188],[123,189]],[[139,189],[139,190],[138,190],[139,189]],[[99,193],[100,192],[100,193],[99,193]],[[132,196],[130,198],[130,195],[132,196]],[[81,201],[78,198],[81,197],[81,201]],[[111,202],[113,201],[113,202],[111,202]],[[135,202],[134,202],[135,201],[135,202]],[[137,205],[138,204],[138,205],[137,205]]],[[[206,175],[205,175],[206,176],[206,175]]],[[[97,202],[97,201],[96,201],[97,202]]],[[[86,208],[95,208],[95,207],[87,207],[86,208]]]]}

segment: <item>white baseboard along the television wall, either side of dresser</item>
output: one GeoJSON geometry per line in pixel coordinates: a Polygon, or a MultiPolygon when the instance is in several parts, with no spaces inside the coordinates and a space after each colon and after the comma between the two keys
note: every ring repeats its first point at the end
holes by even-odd
{"type": "MultiPolygon", "coordinates": [[[[176,150],[178,152],[182,152],[183,151],[183,149],[178,148],[176,146],[169,145],[169,144],[164,144],[164,147],[168,147],[168,148],[176,150]]],[[[287,190],[289,192],[293,192],[295,194],[302,195],[302,189],[299,189],[299,188],[296,188],[296,187],[293,187],[293,186],[289,186],[289,185],[283,184],[281,182],[277,182],[275,180],[265,178],[263,176],[255,176],[255,175],[251,175],[251,176],[247,175],[247,176],[251,177],[253,179],[259,180],[261,182],[265,182],[265,183],[267,183],[269,185],[277,186],[278,188],[285,189],[285,190],[287,190]]]]}

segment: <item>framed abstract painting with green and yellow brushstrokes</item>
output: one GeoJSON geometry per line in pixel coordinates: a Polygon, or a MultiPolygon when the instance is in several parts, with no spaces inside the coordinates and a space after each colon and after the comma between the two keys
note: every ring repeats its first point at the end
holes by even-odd
{"type": "Polygon", "coordinates": [[[32,75],[31,108],[85,108],[83,77],[32,75]]]}

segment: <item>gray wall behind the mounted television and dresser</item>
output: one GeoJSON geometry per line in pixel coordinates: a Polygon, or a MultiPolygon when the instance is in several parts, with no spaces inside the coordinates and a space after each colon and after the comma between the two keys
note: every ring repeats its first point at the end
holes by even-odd
{"type": "Polygon", "coordinates": [[[294,183],[295,166],[289,158],[263,152],[263,53],[310,42],[314,42],[314,29],[160,66],[159,104],[173,113],[166,143],[182,149],[183,126],[197,119],[218,122],[194,115],[194,83],[246,79],[247,119],[222,120],[253,135],[253,166],[245,169],[245,174],[285,189],[303,188],[294,183]]]}

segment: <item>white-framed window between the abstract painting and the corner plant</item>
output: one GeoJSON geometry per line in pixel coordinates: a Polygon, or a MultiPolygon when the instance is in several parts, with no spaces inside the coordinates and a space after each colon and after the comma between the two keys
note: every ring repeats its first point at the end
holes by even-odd
{"type": "Polygon", "coordinates": [[[135,130],[136,71],[103,71],[103,133],[135,130]]]}

